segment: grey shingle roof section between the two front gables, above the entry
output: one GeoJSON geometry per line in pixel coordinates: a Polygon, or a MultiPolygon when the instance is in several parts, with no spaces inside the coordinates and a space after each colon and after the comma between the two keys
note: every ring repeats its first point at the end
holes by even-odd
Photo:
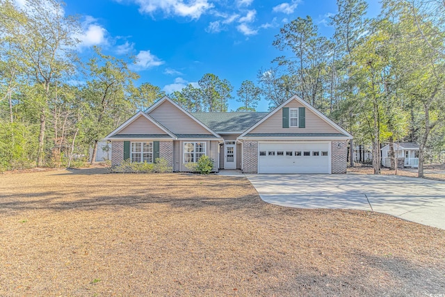
{"type": "Polygon", "coordinates": [[[241,132],[252,127],[268,113],[192,113],[204,125],[218,132],[241,132]]]}

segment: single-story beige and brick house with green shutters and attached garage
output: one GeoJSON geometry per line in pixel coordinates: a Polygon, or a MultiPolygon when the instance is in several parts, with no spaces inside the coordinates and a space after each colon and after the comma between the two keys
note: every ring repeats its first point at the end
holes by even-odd
{"type": "Polygon", "coordinates": [[[213,171],[346,173],[347,131],[298,96],[268,113],[189,113],[168,97],[112,131],[112,166],[161,157],[175,172],[200,156],[213,171]]]}

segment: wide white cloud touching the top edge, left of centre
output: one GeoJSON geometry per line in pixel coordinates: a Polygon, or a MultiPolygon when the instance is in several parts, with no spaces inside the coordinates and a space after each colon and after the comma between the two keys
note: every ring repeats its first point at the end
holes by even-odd
{"type": "Polygon", "coordinates": [[[213,7],[208,0],[133,0],[140,6],[140,13],[155,13],[161,10],[166,15],[191,17],[199,19],[202,14],[213,7]]]}

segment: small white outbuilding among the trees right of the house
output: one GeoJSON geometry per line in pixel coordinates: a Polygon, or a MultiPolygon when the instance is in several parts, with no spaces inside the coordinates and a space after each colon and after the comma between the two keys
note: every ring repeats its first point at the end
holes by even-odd
{"type": "MultiPolygon", "coordinates": [[[[416,143],[394,143],[394,154],[396,154],[398,158],[405,159],[405,167],[419,167],[419,145],[416,143]]],[[[382,147],[382,166],[391,167],[389,144],[382,147]]]]}

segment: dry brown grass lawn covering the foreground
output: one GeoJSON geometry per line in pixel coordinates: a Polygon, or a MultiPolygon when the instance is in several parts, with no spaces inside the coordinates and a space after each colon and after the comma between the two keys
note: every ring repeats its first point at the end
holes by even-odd
{"type": "Polygon", "coordinates": [[[0,175],[0,296],[445,294],[445,231],[266,204],[243,177],[0,175]]]}

